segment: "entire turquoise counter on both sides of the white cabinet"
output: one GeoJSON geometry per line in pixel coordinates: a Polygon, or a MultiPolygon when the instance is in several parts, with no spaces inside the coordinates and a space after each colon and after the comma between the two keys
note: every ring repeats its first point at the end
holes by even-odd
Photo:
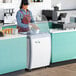
{"type": "MultiPolygon", "coordinates": [[[[51,59],[50,63],[56,63],[76,59],[76,29],[50,29],[52,22],[36,22],[40,32],[51,34],[51,59]],[[49,25],[49,26],[48,26],[49,25]]],[[[7,26],[5,28],[16,28],[7,26]]],[[[27,67],[27,36],[5,35],[0,37],[0,74],[13,72],[27,67]]]]}

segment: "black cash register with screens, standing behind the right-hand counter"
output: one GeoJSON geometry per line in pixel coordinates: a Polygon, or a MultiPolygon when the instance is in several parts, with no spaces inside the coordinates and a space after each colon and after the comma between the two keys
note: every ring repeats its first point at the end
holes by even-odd
{"type": "MultiPolygon", "coordinates": [[[[67,13],[60,13],[59,16],[57,16],[57,12],[55,10],[42,10],[42,15],[47,18],[48,21],[52,22],[52,28],[58,28],[63,29],[64,21],[62,21],[62,18],[66,18],[67,13]]],[[[42,16],[42,20],[44,20],[42,16]]]]}

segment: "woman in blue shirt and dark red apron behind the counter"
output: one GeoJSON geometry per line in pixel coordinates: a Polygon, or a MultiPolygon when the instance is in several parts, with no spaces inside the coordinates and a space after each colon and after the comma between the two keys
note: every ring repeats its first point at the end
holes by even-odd
{"type": "Polygon", "coordinates": [[[22,0],[20,10],[17,12],[16,18],[18,23],[18,32],[28,32],[29,23],[34,23],[31,11],[28,9],[28,1],[22,0]]]}

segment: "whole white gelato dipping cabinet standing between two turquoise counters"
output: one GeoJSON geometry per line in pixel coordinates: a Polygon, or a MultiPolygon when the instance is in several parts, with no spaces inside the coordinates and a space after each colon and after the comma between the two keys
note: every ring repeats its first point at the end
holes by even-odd
{"type": "Polygon", "coordinates": [[[27,69],[50,65],[51,36],[49,33],[28,35],[27,69]]]}

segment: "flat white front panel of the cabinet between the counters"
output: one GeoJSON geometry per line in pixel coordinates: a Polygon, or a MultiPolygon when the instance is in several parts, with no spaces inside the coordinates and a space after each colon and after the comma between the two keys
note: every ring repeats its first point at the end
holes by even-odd
{"type": "Polygon", "coordinates": [[[37,38],[32,39],[32,52],[31,52],[31,67],[43,67],[49,65],[51,47],[50,47],[50,38],[37,38]]]}

